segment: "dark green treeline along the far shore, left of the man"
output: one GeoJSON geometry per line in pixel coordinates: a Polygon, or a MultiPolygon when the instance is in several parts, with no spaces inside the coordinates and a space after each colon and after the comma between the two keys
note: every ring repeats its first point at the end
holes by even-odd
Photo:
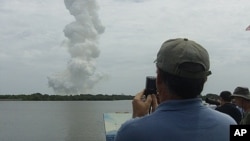
{"type": "Polygon", "coordinates": [[[2,101],[108,101],[108,100],[132,100],[131,95],[103,95],[103,94],[80,94],[80,95],[48,95],[34,93],[30,95],[0,95],[2,101]]]}

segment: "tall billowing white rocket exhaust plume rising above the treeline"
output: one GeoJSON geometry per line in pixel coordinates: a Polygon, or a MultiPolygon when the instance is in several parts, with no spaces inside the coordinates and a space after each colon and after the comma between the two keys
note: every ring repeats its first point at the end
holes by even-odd
{"type": "Polygon", "coordinates": [[[49,87],[56,94],[81,94],[91,92],[103,75],[97,73],[96,58],[100,54],[98,37],[104,32],[95,0],[64,0],[75,21],[66,25],[64,46],[70,54],[66,70],[48,77],[49,87]]]}

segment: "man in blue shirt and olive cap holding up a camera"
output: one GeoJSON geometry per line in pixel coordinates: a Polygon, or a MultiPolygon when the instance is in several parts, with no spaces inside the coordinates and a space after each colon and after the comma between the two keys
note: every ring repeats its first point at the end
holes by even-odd
{"type": "Polygon", "coordinates": [[[116,141],[229,141],[236,122],[208,108],[197,98],[209,71],[209,55],[188,39],[164,42],[156,59],[155,95],[143,101],[144,91],[133,100],[133,117],[117,132],[116,141]],[[152,105],[153,112],[148,115],[152,105]]]}

